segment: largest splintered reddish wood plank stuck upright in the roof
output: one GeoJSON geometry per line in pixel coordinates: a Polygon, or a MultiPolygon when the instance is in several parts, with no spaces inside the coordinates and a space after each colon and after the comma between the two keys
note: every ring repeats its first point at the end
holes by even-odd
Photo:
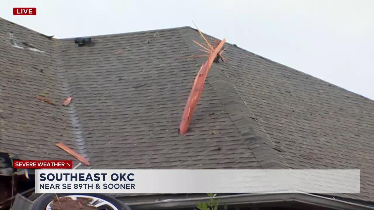
{"type": "Polygon", "coordinates": [[[200,70],[195,77],[195,81],[192,85],[190,96],[188,97],[186,106],[184,107],[184,112],[183,112],[183,115],[182,115],[179,130],[178,130],[179,134],[181,134],[181,135],[186,135],[186,132],[187,132],[188,126],[190,124],[193,112],[195,111],[197,102],[199,101],[200,95],[203,91],[205,78],[208,75],[209,69],[211,68],[213,62],[215,60],[217,60],[217,56],[218,56],[218,58],[221,58],[222,61],[224,61],[224,59],[221,55],[223,51],[221,52],[220,50],[223,47],[223,44],[226,42],[226,39],[224,38],[222,41],[217,41],[215,47],[213,47],[209,43],[209,41],[205,38],[205,36],[201,33],[201,31],[199,29],[197,29],[197,31],[199,31],[200,35],[205,40],[206,44],[208,44],[209,49],[208,49],[208,47],[203,46],[202,44],[198,43],[197,41],[193,41],[193,42],[196,43],[197,45],[199,45],[200,47],[204,48],[204,49],[200,49],[200,50],[202,50],[203,52],[209,52],[209,54],[207,55],[208,59],[200,67],[200,70]]]}

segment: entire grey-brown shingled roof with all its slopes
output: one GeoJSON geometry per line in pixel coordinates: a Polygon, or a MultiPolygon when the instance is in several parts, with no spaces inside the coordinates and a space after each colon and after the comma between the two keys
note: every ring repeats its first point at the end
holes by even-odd
{"type": "Polygon", "coordinates": [[[0,18],[0,38],[0,152],[71,158],[62,142],[94,169],[361,169],[361,193],[341,196],[374,199],[370,99],[226,43],[181,136],[203,59],[180,57],[201,54],[196,30],[95,36],[78,47],[0,18]],[[33,98],[41,94],[56,105],[33,98]]]}

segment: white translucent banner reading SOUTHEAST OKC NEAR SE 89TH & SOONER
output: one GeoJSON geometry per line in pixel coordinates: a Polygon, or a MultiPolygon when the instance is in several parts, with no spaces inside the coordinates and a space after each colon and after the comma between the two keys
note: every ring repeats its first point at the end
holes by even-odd
{"type": "Polygon", "coordinates": [[[359,193],[360,170],[36,170],[36,193],[359,193]]]}

